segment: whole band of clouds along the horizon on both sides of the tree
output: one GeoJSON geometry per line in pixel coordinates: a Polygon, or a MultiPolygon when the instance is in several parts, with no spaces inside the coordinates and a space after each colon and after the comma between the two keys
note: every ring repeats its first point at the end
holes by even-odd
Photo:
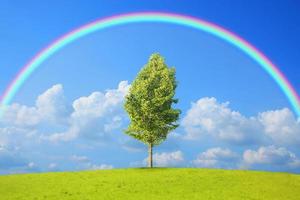
{"type": "MultiPolygon", "coordinates": [[[[8,106],[0,120],[0,173],[110,169],[120,166],[114,156],[126,163],[139,157],[134,166],[145,166],[146,147],[122,133],[128,124],[123,102],[129,88],[121,81],[115,89],[68,102],[63,86],[56,84],[33,106],[8,106]],[[77,151],[70,153],[72,145],[77,151]],[[52,159],[45,149],[57,149],[59,156],[52,159]],[[111,155],[105,161],[95,151],[111,155]],[[36,155],[49,161],[32,159],[36,155]]],[[[155,166],[300,172],[300,120],[288,108],[249,117],[232,110],[229,102],[204,97],[191,104],[180,125],[156,147],[155,166]]]]}

